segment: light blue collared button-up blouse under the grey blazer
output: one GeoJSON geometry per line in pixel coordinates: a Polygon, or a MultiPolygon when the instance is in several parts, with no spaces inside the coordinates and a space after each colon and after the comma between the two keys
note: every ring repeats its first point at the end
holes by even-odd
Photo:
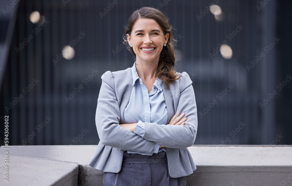
{"type": "MultiPolygon", "coordinates": [[[[126,123],[138,123],[135,127],[134,133],[137,135],[144,135],[144,122],[157,123],[159,125],[165,125],[167,122],[167,109],[163,95],[162,81],[158,77],[156,78],[152,91],[148,93],[147,87],[142,83],[139,78],[135,62],[131,67],[133,77],[133,89],[129,103],[124,111],[124,118],[126,123]]],[[[160,144],[156,144],[151,154],[143,152],[127,151],[128,153],[152,155],[165,151],[164,147],[159,149],[160,144]]]]}

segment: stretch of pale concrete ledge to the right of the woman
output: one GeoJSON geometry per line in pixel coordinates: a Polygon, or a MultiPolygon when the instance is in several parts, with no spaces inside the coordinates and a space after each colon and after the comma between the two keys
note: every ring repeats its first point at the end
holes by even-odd
{"type": "Polygon", "coordinates": [[[193,145],[188,185],[292,185],[291,145],[193,145]]]}

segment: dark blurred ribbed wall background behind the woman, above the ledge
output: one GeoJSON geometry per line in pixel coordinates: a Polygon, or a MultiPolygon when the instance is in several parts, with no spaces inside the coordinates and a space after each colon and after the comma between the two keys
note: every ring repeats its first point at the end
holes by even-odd
{"type": "Polygon", "coordinates": [[[197,102],[198,133],[194,144],[292,144],[292,81],[281,90],[277,88],[292,69],[291,1],[117,0],[102,18],[100,12],[113,1],[63,2],[20,1],[4,15],[2,10],[11,1],[0,1],[0,145],[4,145],[5,116],[9,116],[9,145],[98,144],[95,109],[100,77],[107,70],[132,67],[133,55],[121,41],[128,18],[142,6],[162,10],[176,29],[176,69],[189,74],[197,102]],[[221,7],[222,21],[205,10],[211,3],[221,7]],[[261,4],[265,6],[257,9],[261,4]],[[205,15],[201,14],[204,10],[205,15]],[[35,24],[29,20],[33,11],[39,11],[49,21],[37,35],[33,29],[41,20],[35,24]],[[198,20],[200,14],[204,17],[198,20]],[[239,25],[243,27],[240,32],[227,39],[239,25]],[[73,47],[74,58],[61,58],[54,64],[56,55],[79,32],[86,35],[73,47]],[[15,47],[30,34],[33,39],[17,53],[15,47]],[[274,37],[280,41],[266,53],[264,48],[274,37]],[[219,52],[211,59],[209,53],[224,40],[232,48],[232,58],[225,59],[219,52]],[[121,46],[120,51],[117,46],[121,46]],[[248,71],[246,65],[261,52],[265,56],[248,71]],[[99,72],[85,85],[83,79],[93,69],[99,72]],[[25,94],[22,90],[32,79],[39,82],[25,94]],[[65,97],[80,84],[84,88],[67,102],[65,97]],[[233,88],[219,100],[216,95],[227,84],[233,88]],[[274,90],[277,94],[261,108],[259,103],[274,90]],[[20,94],[23,98],[7,112],[9,102],[20,94]],[[218,103],[208,107],[213,100],[218,103]],[[207,107],[211,108],[208,113],[200,116],[207,107]],[[42,123],[45,121],[47,124],[42,123]],[[240,122],[246,124],[241,129],[240,122]],[[282,136],[280,140],[277,135],[282,136]],[[227,143],[226,138],[230,139],[227,143]]]}

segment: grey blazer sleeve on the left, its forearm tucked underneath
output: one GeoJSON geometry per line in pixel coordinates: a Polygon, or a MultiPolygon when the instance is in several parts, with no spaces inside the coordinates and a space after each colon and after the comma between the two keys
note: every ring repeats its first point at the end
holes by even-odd
{"type": "Polygon", "coordinates": [[[112,72],[105,72],[101,79],[102,84],[95,115],[96,128],[101,143],[123,150],[151,154],[155,142],[146,140],[119,125],[121,116],[112,72]]]}

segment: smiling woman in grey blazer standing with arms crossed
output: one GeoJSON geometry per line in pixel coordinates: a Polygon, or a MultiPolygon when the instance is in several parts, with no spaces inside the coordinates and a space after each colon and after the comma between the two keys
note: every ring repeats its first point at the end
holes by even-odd
{"type": "Polygon", "coordinates": [[[197,134],[194,89],[175,72],[171,30],[159,10],[134,11],[124,39],[133,67],[101,77],[100,142],[88,164],[105,172],[103,185],[185,185],[196,169],[187,149],[197,134]]]}

